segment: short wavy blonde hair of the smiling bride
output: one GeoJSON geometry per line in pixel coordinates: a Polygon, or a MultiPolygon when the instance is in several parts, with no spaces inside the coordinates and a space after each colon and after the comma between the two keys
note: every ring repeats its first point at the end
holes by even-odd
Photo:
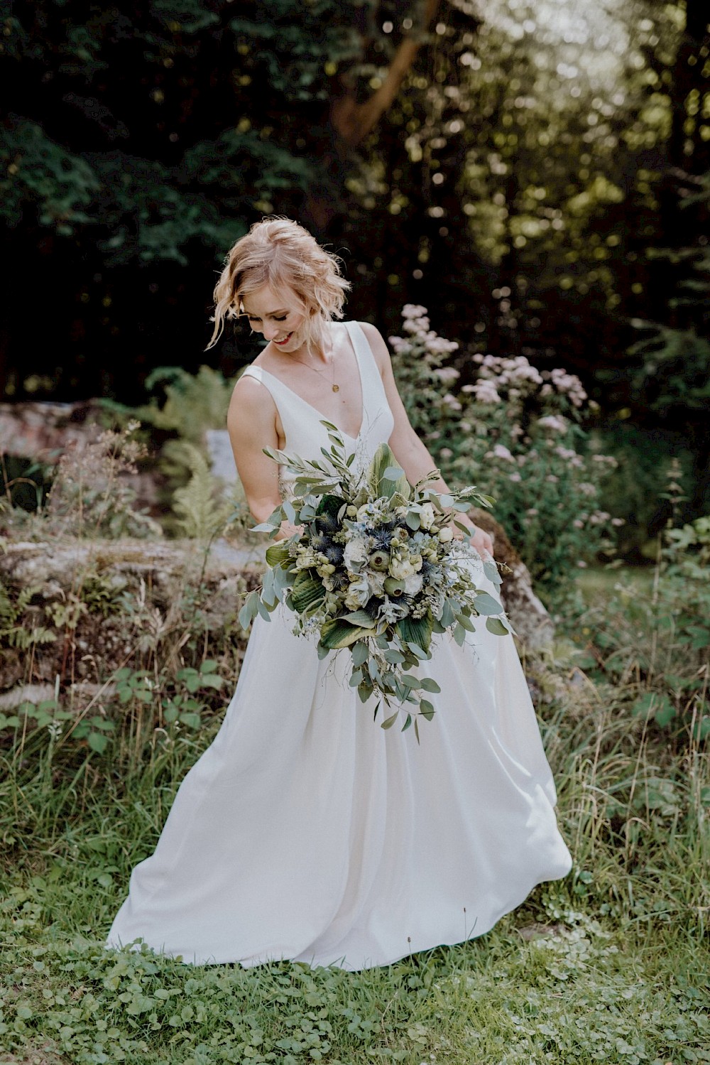
{"type": "Polygon", "coordinates": [[[321,248],[307,229],[291,218],[263,218],[227,256],[214,290],[215,312],[210,320],[214,329],[208,347],[217,342],[225,321],[242,313],[242,298],[264,285],[293,292],[297,309],[306,314],[307,344],[323,343],[326,323],[343,317],[350,288],[336,256],[321,248]]]}

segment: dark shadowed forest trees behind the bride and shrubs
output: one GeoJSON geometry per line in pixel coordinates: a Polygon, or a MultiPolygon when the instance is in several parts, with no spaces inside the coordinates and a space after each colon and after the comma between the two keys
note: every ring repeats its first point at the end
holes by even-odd
{"type": "Polygon", "coordinates": [[[265,213],[337,250],[349,313],[578,373],[620,446],[708,495],[706,0],[40,0],[3,14],[0,383],[143,398],[207,356],[265,213]]]}

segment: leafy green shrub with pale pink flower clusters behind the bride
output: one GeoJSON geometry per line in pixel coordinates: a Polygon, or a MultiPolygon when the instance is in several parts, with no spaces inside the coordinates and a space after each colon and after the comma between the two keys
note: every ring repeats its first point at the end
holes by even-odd
{"type": "Polygon", "coordinates": [[[495,498],[501,523],[532,576],[554,587],[608,545],[614,520],[601,488],[615,460],[583,427],[581,381],[539,371],[525,356],[472,357],[475,379],[442,365],[458,344],[429,327],[426,308],[402,309],[391,337],[395,372],[412,424],[453,485],[475,484],[495,498]]]}

